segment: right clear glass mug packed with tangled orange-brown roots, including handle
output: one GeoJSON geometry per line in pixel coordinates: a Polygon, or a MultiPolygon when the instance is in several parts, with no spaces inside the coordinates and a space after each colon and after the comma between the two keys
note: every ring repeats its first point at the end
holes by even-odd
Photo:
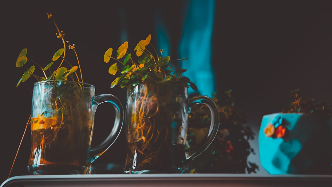
{"type": "Polygon", "coordinates": [[[219,126],[214,101],[204,95],[188,96],[188,86],[145,83],[128,88],[125,109],[127,155],[124,172],[187,173],[187,164],[211,144],[219,126]],[[211,124],[206,138],[186,147],[189,113],[206,104],[211,124]]]}

